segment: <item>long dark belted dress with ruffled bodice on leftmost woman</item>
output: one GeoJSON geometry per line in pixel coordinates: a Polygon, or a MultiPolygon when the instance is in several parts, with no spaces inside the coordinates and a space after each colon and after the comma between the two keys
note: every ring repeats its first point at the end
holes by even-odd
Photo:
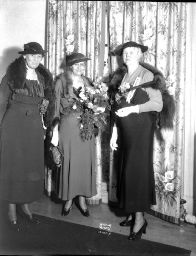
{"type": "Polygon", "coordinates": [[[39,82],[26,80],[22,89],[12,89],[7,76],[0,85],[0,199],[12,203],[44,195],[44,133],[38,108],[44,79],[40,73],[37,77],[39,82]]]}

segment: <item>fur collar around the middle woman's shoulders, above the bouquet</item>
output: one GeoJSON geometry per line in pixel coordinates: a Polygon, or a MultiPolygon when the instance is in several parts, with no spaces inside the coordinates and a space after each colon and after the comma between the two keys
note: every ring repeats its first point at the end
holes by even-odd
{"type": "MultiPolygon", "coordinates": [[[[87,76],[81,75],[82,80],[84,81],[85,86],[92,86],[92,81],[87,76]]],[[[73,95],[73,80],[71,78],[71,68],[67,67],[64,73],[58,75],[55,79],[58,79],[62,82],[62,94],[66,98],[71,98],[73,95]]]]}

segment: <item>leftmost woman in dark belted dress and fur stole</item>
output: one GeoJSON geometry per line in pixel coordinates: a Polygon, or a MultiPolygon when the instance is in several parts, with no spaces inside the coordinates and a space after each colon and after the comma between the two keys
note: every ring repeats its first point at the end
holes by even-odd
{"type": "Polygon", "coordinates": [[[37,42],[24,44],[0,84],[0,198],[9,202],[7,223],[16,231],[17,213],[40,222],[29,203],[43,196],[44,128],[55,111],[53,79],[40,64],[45,52],[37,42]]]}

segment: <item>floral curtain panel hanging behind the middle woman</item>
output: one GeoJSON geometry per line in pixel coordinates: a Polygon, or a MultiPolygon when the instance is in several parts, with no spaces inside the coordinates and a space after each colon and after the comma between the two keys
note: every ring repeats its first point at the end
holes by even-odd
{"type": "MultiPolygon", "coordinates": [[[[65,56],[81,52],[91,58],[87,61],[85,75],[94,80],[99,76],[101,47],[102,1],[57,1],[49,0],[48,6],[48,69],[52,75],[63,72],[65,56]]],[[[88,198],[87,204],[101,202],[101,140],[96,137],[97,195],[88,198]]],[[[45,172],[46,194],[55,191],[56,176],[51,169],[45,172]]]]}

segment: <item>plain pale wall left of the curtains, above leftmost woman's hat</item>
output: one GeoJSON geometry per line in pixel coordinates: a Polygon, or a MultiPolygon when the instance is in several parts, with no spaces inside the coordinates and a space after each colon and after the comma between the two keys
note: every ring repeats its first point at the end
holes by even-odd
{"type": "Polygon", "coordinates": [[[11,61],[20,57],[17,52],[23,50],[24,44],[36,41],[45,47],[47,3],[47,0],[0,0],[0,81],[11,61]]]}

